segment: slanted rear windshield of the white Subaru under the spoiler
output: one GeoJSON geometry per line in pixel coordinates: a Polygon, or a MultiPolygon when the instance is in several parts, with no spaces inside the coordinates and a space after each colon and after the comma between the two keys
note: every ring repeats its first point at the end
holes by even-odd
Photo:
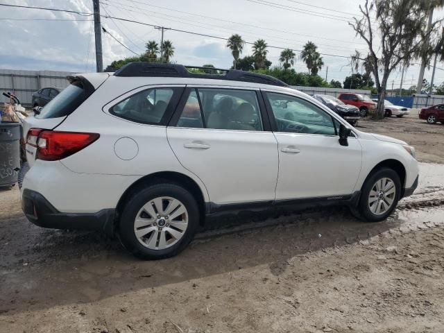
{"type": "Polygon", "coordinates": [[[89,94],[85,91],[83,83],[76,80],[46,104],[40,111],[40,114],[37,114],[35,118],[48,119],[65,117],[74,112],[88,96],[89,94]]]}

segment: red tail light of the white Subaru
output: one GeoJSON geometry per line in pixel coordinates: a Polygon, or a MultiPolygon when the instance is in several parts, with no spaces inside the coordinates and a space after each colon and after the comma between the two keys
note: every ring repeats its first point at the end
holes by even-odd
{"type": "Polygon", "coordinates": [[[45,161],[62,160],[99,139],[97,133],[58,132],[31,128],[26,142],[37,148],[36,157],[45,161]]]}

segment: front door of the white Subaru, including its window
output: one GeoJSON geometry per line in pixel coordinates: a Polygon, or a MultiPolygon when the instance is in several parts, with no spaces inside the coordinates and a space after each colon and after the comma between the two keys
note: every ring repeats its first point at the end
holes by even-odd
{"type": "Polygon", "coordinates": [[[361,169],[361,144],[339,144],[342,122],[303,97],[264,92],[279,150],[276,200],[342,197],[353,193],[361,169]],[[287,105],[282,108],[280,105],[287,105]]]}

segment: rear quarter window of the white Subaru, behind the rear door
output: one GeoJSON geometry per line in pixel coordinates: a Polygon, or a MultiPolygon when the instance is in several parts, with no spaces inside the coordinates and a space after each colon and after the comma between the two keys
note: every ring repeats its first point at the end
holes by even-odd
{"type": "Polygon", "coordinates": [[[110,108],[110,114],[137,123],[158,124],[162,121],[173,88],[151,88],[137,92],[110,108]]]}

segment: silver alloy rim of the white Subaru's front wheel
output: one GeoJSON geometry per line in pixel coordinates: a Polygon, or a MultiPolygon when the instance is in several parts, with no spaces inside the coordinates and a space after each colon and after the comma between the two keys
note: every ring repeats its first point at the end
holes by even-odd
{"type": "Polygon", "coordinates": [[[375,215],[390,210],[396,197],[395,182],[391,178],[381,178],[375,182],[368,194],[368,208],[375,215]]]}

